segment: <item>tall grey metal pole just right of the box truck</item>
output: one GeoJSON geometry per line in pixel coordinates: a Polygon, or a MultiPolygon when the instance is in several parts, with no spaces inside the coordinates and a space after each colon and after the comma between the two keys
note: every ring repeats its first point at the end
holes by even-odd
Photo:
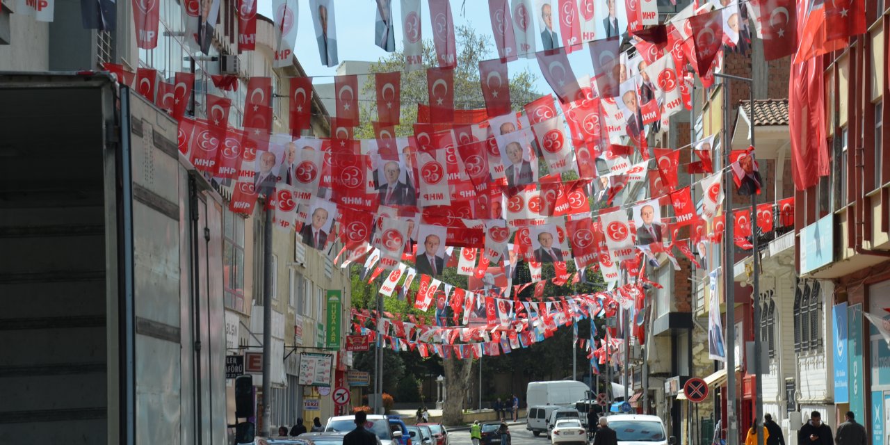
{"type": "MultiPolygon", "coordinates": [[[[267,197],[266,199],[269,199],[267,197]]],[[[272,437],[272,213],[263,225],[263,422],[256,431],[272,437]]],[[[278,358],[280,359],[280,357],[278,358]]]]}

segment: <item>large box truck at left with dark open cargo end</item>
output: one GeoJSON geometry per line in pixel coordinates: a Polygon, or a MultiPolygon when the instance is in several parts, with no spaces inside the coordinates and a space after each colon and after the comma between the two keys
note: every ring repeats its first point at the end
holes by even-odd
{"type": "Polygon", "coordinates": [[[0,443],[228,443],[223,201],[107,73],[0,72],[0,443]]]}

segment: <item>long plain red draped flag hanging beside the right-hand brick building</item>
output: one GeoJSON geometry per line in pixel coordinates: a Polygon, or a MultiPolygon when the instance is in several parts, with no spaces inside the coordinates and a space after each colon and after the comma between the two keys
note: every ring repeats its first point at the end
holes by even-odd
{"type": "Polygon", "coordinates": [[[797,190],[805,190],[829,174],[825,137],[824,82],[821,57],[791,65],[788,121],[791,172],[797,190]]]}

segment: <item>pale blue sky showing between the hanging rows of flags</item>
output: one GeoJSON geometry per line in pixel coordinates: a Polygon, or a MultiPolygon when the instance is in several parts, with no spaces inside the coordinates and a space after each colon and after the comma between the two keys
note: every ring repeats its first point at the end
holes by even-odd
{"type": "MultiPolygon", "coordinates": [[[[336,67],[321,65],[318,44],[315,38],[315,28],[312,26],[309,0],[297,0],[299,12],[297,18],[297,37],[295,53],[297,60],[303,66],[307,76],[323,77],[313,81],[315,84],[328,84],[334,81],[336,67]]],[[[430,26],[429,7],[427,0],[421,0],[422,34],[425,39],[433,38],[433,29],[430,26]]],[[[497,49],[494,46],[494,37],[491,32],[488,2],[485,0],[450,0],[451,15],[454,17],[454,25],[469,25],[475,29],[477,35],[487,36],[490,43],[490,59],[497,57],[497,49]],[[462,5],[466,7],[462,9],[462,5]]],[[[266,17],[272,17],[271,0],[260,0],[257,12],[266,17]]],[[[334,0],[336,38],[339,61],[378,61],[387,53],[374,44],[374,28],[376,20],[375,0],[334,0]]],[[[392,1],[392,16],[397,18],[394,24],[396,50],[401,51],[401,2],[392,1]]],[[[459,52],[459,48],[458,48],[459,52]]],[[[583,77],[593,71],[590,61],[590,53],[587,47],[569,54],[571,67],[576,77],[583,77]]],[[[508,64],[510,72],[520,72],[528,68],[536,77],[535,88],[538,93],[551,92],[541,71],[538,69],[538,61],[520,59],[508,64]]],[[[481,95],[481,90],[480,90],[481,95]]]]}

